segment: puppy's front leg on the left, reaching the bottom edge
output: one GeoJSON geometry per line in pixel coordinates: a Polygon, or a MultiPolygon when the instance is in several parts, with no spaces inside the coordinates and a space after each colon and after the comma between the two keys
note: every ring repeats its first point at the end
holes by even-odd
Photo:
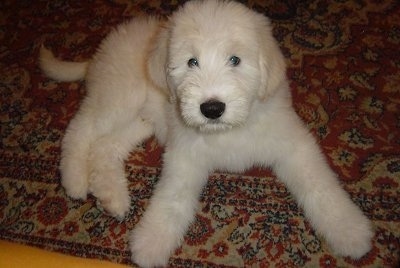
{"type": "Polygon", "coordinates": [[[141,267],[167,265],[194,219],[207,176],[207,168],[202,168],[199,159],[184,150],[169,150],[164,154],[160,182],[131,234],[130,248],[135,263],[141,267]]]}

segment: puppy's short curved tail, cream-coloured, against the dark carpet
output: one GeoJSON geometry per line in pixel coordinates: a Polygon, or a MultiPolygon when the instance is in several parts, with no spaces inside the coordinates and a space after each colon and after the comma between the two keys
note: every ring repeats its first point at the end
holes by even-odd
{"type": "Polygon", "coordinates": [[[89,62],[59,60],[54,57],[50,50],[42,45],[40,48],[39,65],[48,77],[57,81],[71,82],[85,78],[89,62]]]}

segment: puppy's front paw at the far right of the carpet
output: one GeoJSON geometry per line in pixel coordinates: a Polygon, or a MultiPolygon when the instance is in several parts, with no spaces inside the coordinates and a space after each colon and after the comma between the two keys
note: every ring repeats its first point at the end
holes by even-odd
{"type": "Polygon", "coordinates": [[[369,220],[364,215],[353,215],[346,221],[332,225],[332,233],[327,240],[332,249],[341,256],[359,259],[372,248],[372,231],[369,220]]]}

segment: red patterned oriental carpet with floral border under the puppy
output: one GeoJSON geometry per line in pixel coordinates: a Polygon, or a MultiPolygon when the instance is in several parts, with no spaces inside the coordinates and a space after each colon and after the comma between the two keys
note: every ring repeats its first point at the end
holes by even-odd
{"type": "MultiPolygon", "coordinates": [[[[0,238],[131,264],[128,232],[160,175],[154,139],[127,161],[132,209],[124,222],[69,199],[60,140],[85,94],[37,67],[42,43],[89,58],[109,30],[182,1],[0,2],[0,238]]],[[[246,1],[244,1],[246,2],[246,1]]],[[[344,188],[373,221],[373,250],[335,257],[268,170],[215,173],[171,267],[398,267],[400,262],[400,2],[248,1],[269,16],[288,64],[294,106],[344,188]]]]}

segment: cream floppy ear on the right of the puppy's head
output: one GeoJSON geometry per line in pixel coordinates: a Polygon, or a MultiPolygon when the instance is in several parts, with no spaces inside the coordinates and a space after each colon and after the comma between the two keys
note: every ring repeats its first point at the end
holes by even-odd
{"type": "Polygon", "coordinates": [[[268,18],[264,17],[264,27],[261,29],[260,72],[261,86],[259,97],[268,98],[286,81],[286,64],[277,41],[272,35],[272,27],[268,18]]]}

